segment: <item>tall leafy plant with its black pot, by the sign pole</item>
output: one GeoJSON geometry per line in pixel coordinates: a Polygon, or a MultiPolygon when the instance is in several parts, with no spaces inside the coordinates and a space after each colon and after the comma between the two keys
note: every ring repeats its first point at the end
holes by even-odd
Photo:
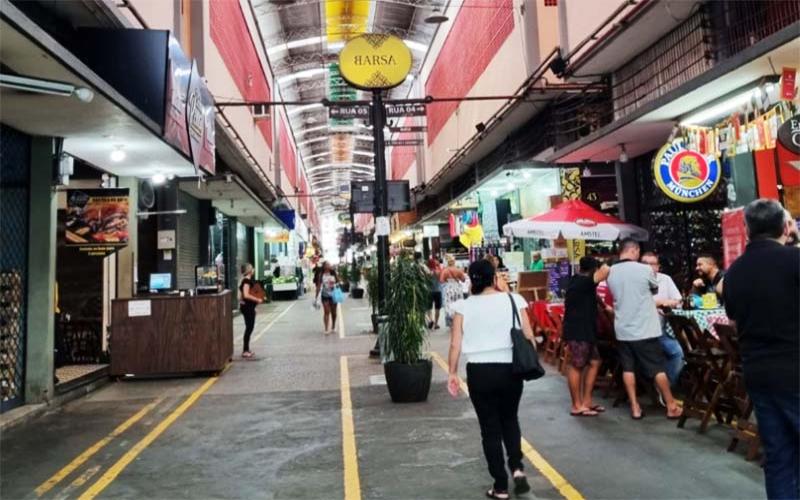
{"type": "Polygon", "coordinates": [[[431,360],[423,358],[430,278],[412,258],[401,255],[392,265],[390,282],[385,304],[388,320],[378,337],[386,385],[395,403],[425,401],[432,373],[431,360]]]}

